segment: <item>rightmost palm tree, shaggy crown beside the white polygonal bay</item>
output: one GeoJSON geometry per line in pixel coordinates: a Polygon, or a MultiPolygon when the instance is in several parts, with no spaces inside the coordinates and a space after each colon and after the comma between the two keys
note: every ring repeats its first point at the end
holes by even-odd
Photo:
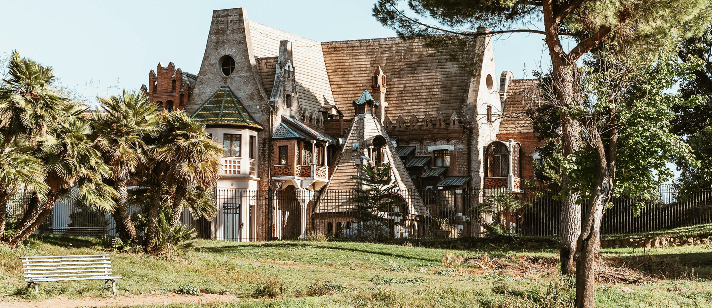
{"type": "MultiPolygon", "coordinates": [[[[205,133],[205,126],[183,111],[163,113],[166,128],[148,146],[156,173],[173,188],[170,225],[180,222],[185,197],[195,187],[212,188],[220,178],[225,150],[205,133]]],[[[158,179],[157,179],[158,180],[158,179]]]]}

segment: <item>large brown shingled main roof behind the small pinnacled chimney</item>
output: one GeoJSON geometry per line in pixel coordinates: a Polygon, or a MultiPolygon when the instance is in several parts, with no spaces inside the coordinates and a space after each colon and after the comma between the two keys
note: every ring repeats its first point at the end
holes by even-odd
{"type": "Polygon", "coordinates": [[[448,55],[418,41],[398,38],[322,43],[334,103],[352,114],[352,101],[371,86],[374,68],[386,75],[386,103],[399,114],[460,113],[468,98],[471,76],[448,55]]]}

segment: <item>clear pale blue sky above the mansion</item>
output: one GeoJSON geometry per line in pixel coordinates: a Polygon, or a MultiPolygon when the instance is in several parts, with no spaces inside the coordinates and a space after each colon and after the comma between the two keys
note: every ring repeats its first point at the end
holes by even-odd
{"type": "MultiPolygon", "coordinates": [[[[0,0],[0,53],[17,50],[53,66],[63,86],[84,96],[107,96],[118,88],[138,89],[158,62],[198,73],[214,10],[246,8],[250,20],[317,41],[396,36],[371,17],[372,6],[374,0],[0,0]]],[[[523,66],[528,76],[540,63],[547,67],[543,43],[535,34],[498,39],[498,74],[513,71],[522,78],[523,66]]]]}

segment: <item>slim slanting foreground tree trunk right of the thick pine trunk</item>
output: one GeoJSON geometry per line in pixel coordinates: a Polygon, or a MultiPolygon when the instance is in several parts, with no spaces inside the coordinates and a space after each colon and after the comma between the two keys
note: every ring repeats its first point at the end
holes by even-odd
{"type": "Polygon", "coordinates": [[[588,206],[585,227],[578,240],[577,261],[577,308],[595,308],[594,295],[597,290],[595,278],[597,255],[599,252],[600,228],[604,208],[609,202],[613,179],[606,177],[599,182],[588,206]]]}

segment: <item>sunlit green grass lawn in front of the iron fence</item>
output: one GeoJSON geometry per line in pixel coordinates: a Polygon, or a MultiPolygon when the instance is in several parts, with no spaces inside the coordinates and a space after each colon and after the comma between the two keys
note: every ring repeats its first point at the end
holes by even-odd
{"type": "MultiPolygon", "coordinates": [[[[547,249],[466,252],[352,242],[215,241],[201,242],[195,252],[178,260],[109,254],[114,272],[124,277],[116,284],[119,296],[170,293],[190,285],[243,298],[200,307],[558,307],[558,298],[572,295],[555,271],[518,278],[497,270],[469,274],[467,265],[443,267],[441,259],[446,252],[471,256],[487,252],[492,257],[557,256],[556,250],[547,249]],[[280,292],[282,295],[274,298],[262,297],[280,292]]],[[[20,255],[100,253],[104,253],[101,242],[86,238],[36,237],[19,249],[0,247],[0,299],[110,297],[111,292],[97,281],[41,283],[39,294],[29,292],[18,260],[20,255]]],[[[709,245],[646,252],[640,248],[602,250],[603,257],[615,255],[653,255],[656,260],[670,260],[685,268],[678,276],[687,279],[600,285],[597,307],[711,307],[709,245]],[[632,292],[622,292],[622,287],[632,292]]]]}

